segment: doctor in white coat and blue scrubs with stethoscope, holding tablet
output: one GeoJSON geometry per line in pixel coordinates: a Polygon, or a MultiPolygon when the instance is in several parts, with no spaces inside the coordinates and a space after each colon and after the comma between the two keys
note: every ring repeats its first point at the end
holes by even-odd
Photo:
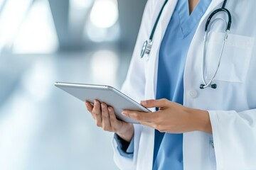
{"type": "Polygon", "coordinates": [[[148,0],[122,92],[152,113],[85,103],[120,169],[256,169],[255,6],[148,0]]]}

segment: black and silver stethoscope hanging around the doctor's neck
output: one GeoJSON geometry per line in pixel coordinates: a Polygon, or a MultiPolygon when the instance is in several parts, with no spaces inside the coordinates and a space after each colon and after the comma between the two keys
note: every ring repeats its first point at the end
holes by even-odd
{"type": "MultiPolygon", "coordinates": [[[[159,18],[161,16],[161,13],[164,10],[164,6],[166,6],[167,1],[168,0],[164,1],[163,6],[161,7],[159,15],[157,16],[156,22],[154,23],[154,27],[153,27],[153,29],[151,31],[149,40],[145,40],[144,41],[144,44],[142,46],[141,58],[143,58],[146,55],[149,56],[149,53],[150,53],[151,47],[152,47],[152,41],[153,41],[153,37],[154,37],[154,32],[156,30],[157,24],[159,23],[159,18]]],[[[232,17],[231,17],[230,11],[228,11],[228,9],[225,8],[225,5],[227,4],[227,1],[228,0],[224,0],[223,1],[223,6],[221,8],[218,8],[215,11],[213,11],[212,13],[210,13],[210,16],[208,17],[208,19],[206,21],[206,28],[205,28],[205,35],[204,35],[204,45],[203,45],[203,58],[202,58],[202,64],[203,64],[203,67],[202,67],[203,68],[203,70],[202,70],[202,79],[203,79],[203,84],[200,84],[200,89],[206,89],[207,87],[211,87],[213,89],[217,88],[217,84],[213,84],[213,80],[215,79],[215,76],[216,76],[216,74],[218,72],[218,69],[220,67],[220,60],[223,58],[223,54],[224,54],[224,50],[225,50],[225,44],[226,44],[226,42],[228,40],[228,33],[230,31],[230,27],[231,27],[231,23],[232,23],[232,17]],[[222,19],[222,18],[215,18],[213,20],[213,22],[212,22],[212,23],[214,23],[215,21],[217,21],[219,19],[224,21],[224,23],[225,23],[225,38],[224,38],[224,41],[223,41],[223,47],[222,47],[222,50],[221,50],[220,59],[218,61],[218,66],[215,69],[213,77],[207,83],[205,77],[206,77],[206,47],[207,47],[207,44],[208,44],[208,33],[209,33],[209,30],[210,30],[210,27],[212,26],[212,24],[210,24],[210,21],[213,18],[213,16],[215,16],[215,14],[217,14],[218,12],[225,12],[226,13],[226,15],[228,16],[228,23],[226,23],[226,21],[224,19],[222,19]]]]}

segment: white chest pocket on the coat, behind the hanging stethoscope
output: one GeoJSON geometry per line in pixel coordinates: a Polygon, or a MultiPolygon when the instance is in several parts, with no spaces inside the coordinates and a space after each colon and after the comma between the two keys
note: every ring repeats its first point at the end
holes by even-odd
{"type": "MultiPolygon", "coordinates": [[[[206,49],[206,79],[211,79],[218,67],[225,33],[211,32],[206,49]]],[[[252,57],[254,38],[229,34],[215,80],[244,82],[252,57]]]]}

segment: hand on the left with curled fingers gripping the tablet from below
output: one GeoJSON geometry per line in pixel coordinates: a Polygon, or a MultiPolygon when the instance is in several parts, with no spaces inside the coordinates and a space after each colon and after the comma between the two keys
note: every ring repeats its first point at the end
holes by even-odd
{"type": "Polygon", "coordinates": [[[127,142],[132,140],[134,128],[131,123],[117,120],[114,109],[105,103],[95,100],[94,104],[85,101],[87,110],[92,114],[96,125],[105,131],[115,132],[119,137],[127,142]]]}

